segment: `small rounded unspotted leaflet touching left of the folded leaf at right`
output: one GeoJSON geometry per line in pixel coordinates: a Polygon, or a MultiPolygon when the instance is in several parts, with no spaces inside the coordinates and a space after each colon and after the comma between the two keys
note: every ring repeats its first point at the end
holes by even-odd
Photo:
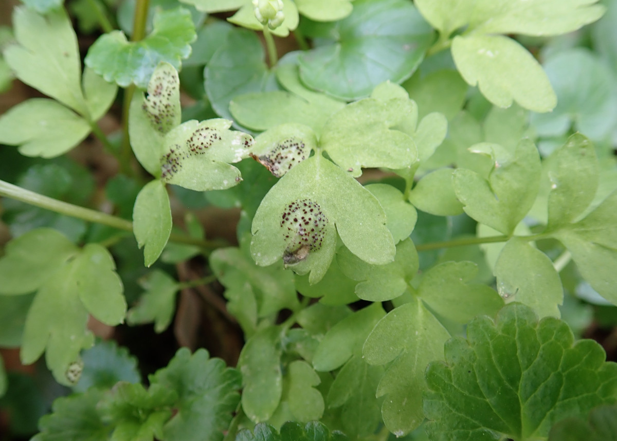
{"type": "Polygon", "coordinates": [[[452,186],[452,168],[439,168],[423,176],[409,194],[416,208],[437,216],[456,216],[463,213],[463,204],[452,186]]]}

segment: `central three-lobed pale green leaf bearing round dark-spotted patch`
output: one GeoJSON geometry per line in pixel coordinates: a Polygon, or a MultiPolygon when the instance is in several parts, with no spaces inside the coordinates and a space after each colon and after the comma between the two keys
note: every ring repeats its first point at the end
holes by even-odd
{"type": "Polygon", "coordinates": [[[300,273],[312,270],[309,280],[318,282],[334,257],[335,225],[346,247],[365,262],[381,265],[394,260],[383,208],[355,179],[317,154],[292,168],[263,198],[252,225],[252,257],[261,266],[283,257],[288,265],[296,263],[294,270],[300,268],[300,273]],[[317,213],[307,214],[317,231],[305,230],[304,223],[293,220],[302,215],[304,204],[307,213],[317,213]],[[357,212],[365,216],[360,223],[357,212]]]}

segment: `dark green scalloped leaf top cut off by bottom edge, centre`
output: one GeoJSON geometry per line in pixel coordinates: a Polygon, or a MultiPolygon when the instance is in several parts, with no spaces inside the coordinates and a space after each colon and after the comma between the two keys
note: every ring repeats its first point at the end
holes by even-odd
{"type": "Polygon", "coordinates": [[[347,437],[339,431],[330,432],[318,421],[307,422],[301,426],[288,421],[278,434],[270,424],[257,424],[253,431],[245,429],[238,433],[236,441],[344,441],[347,437]]]}

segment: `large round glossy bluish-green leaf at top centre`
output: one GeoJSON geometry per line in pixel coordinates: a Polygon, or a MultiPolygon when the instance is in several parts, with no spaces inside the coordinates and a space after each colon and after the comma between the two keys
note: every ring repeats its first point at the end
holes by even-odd
{"type": "Polygon", "coordinates": [[[349,101],[368,96],[384,81],[406,80],[433,41],[431,28],[404,0],[356,0],[346,19],[324,27],[336,41],[299,57],[300,78],[349,101]]]}

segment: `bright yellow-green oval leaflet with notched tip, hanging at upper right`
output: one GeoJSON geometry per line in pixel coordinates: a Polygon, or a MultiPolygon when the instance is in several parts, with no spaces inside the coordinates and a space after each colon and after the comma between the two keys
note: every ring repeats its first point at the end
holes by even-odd
{"type": "Polygon", "coordinates": [[[500,35],[456,36],[452,57],[471,86],[499,107],[516,101],[525,109],[549,112],[557,98],[544,70],[523,46],[500,35]]]}

